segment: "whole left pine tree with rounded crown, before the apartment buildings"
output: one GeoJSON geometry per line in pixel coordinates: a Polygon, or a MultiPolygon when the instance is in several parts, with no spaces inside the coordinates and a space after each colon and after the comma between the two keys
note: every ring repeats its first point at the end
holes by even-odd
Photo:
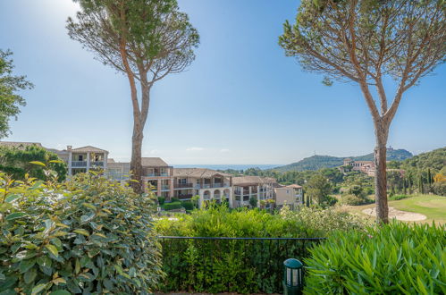
{"type": "Polygon", "coordinates": [[[130,170],[133,189],[141,191],[143,131],[150,90],[170,73],[182,72],[195,59],[198,32],[176,0],[74,0],[77,21],[69,18],[69,36],[130,83],[133,107],[130,170]],[[138,89],[139,88],[139,89],[138,89]]]}

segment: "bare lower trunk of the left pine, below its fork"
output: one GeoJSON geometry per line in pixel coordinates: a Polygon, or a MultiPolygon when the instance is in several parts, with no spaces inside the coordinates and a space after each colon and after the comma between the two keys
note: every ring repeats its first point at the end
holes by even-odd
{"type": "Polygon", "coordinates": [[[130,161],[130,171],[131,171],[131,179],[134,181],[130,182],[131,188],[136,193],[142,193],[142,164],[141,164],[141,156],[142,156],[142,139],[144,138],[142,126],[137,121],[137,118],[134,119],[135,123],[133,124],[133,136],[131,138],[131,161],[130,161]]]}

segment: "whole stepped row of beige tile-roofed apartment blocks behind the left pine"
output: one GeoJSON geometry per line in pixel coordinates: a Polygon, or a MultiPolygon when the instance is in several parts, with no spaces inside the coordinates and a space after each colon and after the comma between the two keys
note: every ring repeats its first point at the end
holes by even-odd
{"type": "MultiPolygon", "coordinates": [[[[40,143],[5,142],[0,145],[26,147],[40,143]]],[[[58,150],[46,148],[57,154],[67,163],[68,175],[86,173],[91,169],[104,170],[105,176],[120,181],[122,184],[130,180],[130,163],[115,162],[108,157],[108,151],[98,147],[67,146],[58,150]]],[[[257,198],[257,206],[262,200],[276,199],[277,205],[301,202],[301,187],[281,186],[273,178],[260,176],[233,177],[228,173],[221,173],[206,168],[173,168],[159,157],[143,157],[142,185],[145,191],[152,191],[157,197],[164,197],[167,201],[172,198],[190,200],[199,196],[199,206],[207,201],[216,203],[228,202],[231,207],[249,206],[250,198],[257,198]]],[[[293,203],[293,204],[294,204],[293,203]]]]}

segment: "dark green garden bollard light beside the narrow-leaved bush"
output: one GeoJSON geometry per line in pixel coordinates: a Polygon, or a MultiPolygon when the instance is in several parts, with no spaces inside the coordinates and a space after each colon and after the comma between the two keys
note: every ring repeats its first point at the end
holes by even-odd
{"type": "Polygon", "coordinates": [[[302,294],[304,265],[298,259],[290,258],[283,262],[283,267],[283,294],[302,294]]]}

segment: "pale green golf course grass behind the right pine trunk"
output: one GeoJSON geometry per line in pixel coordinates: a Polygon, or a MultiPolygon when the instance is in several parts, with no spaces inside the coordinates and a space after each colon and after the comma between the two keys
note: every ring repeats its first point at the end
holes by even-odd
{"type": "MultiPolygon", "coordinates": [[[[414,197],[403,198],[398,201],[389,201],[389,206],[401,211],[420,213],[425,215],[427,219],[418,221],[417,223],[446,223],[446,197],[435,195],[414,195],[414,197]]],[[[374,207],[374,204],[364,206],[343,206],[341,209],[355,213],[370,221],[374,221],[374,217],[370,217],[362,213],[366,208],[374,207]]]]}

